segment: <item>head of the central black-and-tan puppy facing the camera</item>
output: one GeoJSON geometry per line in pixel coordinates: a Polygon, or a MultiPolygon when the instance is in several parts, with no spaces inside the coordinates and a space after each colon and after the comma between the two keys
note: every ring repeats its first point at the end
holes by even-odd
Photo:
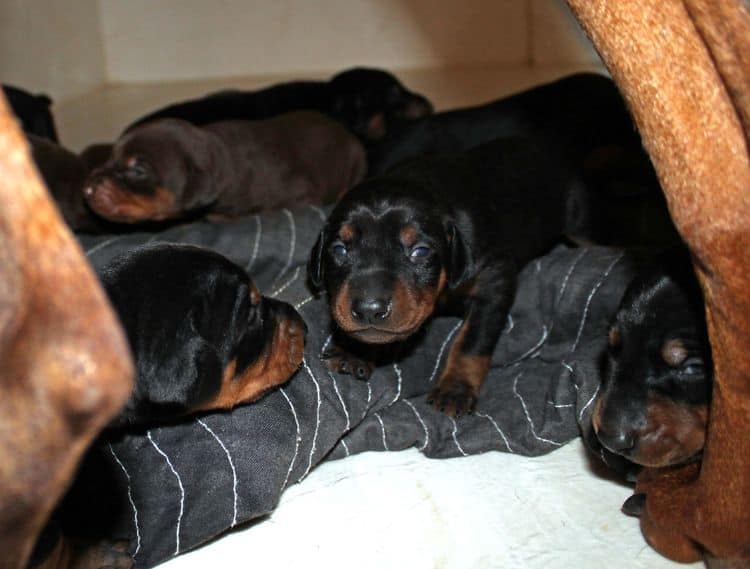
{"type": "Polygon", "coordinates": [[[329,295],[339,328],[365,343],[404,340],[459,286],[470,253],[450,215],[387,178],[347,193],[331,213],[308,266],[329,295]]]}

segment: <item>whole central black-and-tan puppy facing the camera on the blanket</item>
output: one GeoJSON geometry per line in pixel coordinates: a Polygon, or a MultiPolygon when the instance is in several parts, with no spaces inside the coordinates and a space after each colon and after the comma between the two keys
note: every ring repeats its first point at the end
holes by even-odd
{"type": "MultiPolygon", "coordinates": [[[[336,205],[310,281],[327,291],[339,331],[364,344],[409,338],[439,301],[457,308],[464,322],[431,399],[451,415],[471,412],[518,271],[565,232],[570,187],[554,157],[520,138],[414,159],[336,205]]],[[[337,354],[329,366],[366,376],[353,361],[337,354]]]]}

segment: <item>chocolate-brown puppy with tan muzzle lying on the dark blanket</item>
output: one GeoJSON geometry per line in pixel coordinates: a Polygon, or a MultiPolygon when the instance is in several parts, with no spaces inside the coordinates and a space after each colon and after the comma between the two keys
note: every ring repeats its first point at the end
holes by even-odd
{"type": "Polygon", "coordinates": [[[119,223],[231,217],[330,203],[365,170],[359,141],[319,113],[202,128],[164,119],[123,135],[84,196],[95,213],[119,223]]]}

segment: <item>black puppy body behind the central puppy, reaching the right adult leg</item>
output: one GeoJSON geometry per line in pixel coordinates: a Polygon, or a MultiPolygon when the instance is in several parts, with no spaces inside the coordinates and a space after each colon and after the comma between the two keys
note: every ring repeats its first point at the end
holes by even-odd
{"type": "Polygon", "coordinates": [[[429,153],[532,137],[561,157],[588,190],[586,238],[618,246],[679,243],[651,161],[611,79],[578,73],[497,101],[404,123],[368,147],[368,175],[429,153]]]}

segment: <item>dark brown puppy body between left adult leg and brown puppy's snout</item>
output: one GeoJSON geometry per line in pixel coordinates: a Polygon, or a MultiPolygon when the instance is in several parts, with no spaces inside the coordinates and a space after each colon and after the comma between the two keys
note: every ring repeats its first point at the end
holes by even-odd
{"type": "Polygon", "coordinates": [[[85,162],[68,149],[27,134],[31,155],[65,222],[73,231],[100,233],[106,223],[95,216],[83,199],[88,176],[85,162]]]}

